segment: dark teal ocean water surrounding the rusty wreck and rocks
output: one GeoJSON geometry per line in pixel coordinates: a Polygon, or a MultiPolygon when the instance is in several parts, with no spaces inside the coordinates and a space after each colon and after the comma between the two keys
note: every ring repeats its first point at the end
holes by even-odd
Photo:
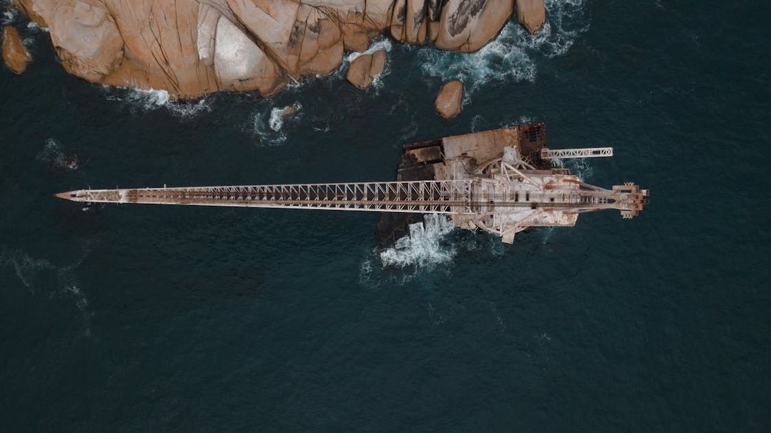
{"type": "Polygon", "coordinates": [[[768,431],[771,4],[548,5],[476,55],[390,44],[366,92],[338,72],[189,103],[68,76],[24,27],[35,62],[0,69],[2,429],[768,431]],[[403,142],[540,120],[614,146],[574,168],[651,205],[381,256],[376,214],[51,196],[390,180],[403,142]]]}

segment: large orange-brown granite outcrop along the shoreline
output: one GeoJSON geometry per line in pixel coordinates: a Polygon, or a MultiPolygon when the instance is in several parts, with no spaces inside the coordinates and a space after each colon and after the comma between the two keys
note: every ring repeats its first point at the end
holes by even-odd
{"type": "Polygon", "coordinates": [[[14,0],[49,28],[72,74],[179,97],[270,95],[303,76],[333,72],[345,50],[365,51],[383,30],[410,44],[472,52],[500,32],[514,1],[14,0]]]}

